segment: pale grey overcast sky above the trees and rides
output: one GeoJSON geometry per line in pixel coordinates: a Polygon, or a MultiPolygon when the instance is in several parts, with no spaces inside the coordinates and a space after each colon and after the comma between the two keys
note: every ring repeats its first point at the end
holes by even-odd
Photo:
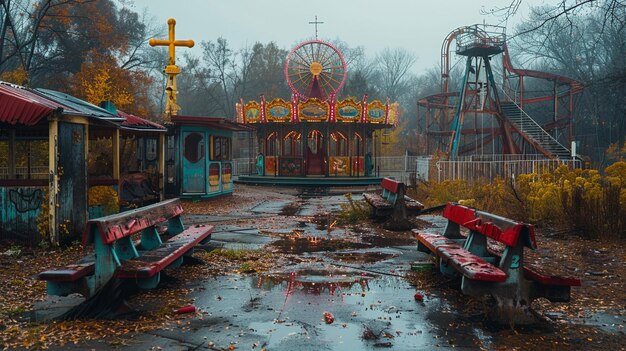
{"type": "MultiPolygon", "coordinates": [[[[130,0],[133,10],[162,23],[176,19],[176,38],[193,39],[197,56],[200,42],[224,37],[233,49],[255,42],[274,41],[291,49],[314,39],[315,27],[309,22],[324,22],[318,27],[319,39],[363,46],[369,58],[386,47],[404,48],[417,57],[415,73],[437,65],[441,44],[452,30],[476,23],[498,24],[498,19],[481,10],[503,7],[512,0],[130,0]]],[[[553,0],[524,0],[507,32],[524,19],[531,5],[553,0]]],[[[181,48],[180,50],[187,50],[181,48]]],[[[513,54],[514,55],[514,54],[513,54]]]]}

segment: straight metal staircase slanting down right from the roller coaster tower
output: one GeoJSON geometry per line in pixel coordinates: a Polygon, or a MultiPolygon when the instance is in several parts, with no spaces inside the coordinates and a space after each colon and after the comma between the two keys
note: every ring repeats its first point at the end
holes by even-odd
{"type": "Polygon", "coordinates": [[[568,148],[559,143],[550,133],[546,132],[524,110],[514,102],[500,103],[504,117],[509,120],[520,135],[539,152],[552,159],[569,159],[571,153],[568,148]]]}

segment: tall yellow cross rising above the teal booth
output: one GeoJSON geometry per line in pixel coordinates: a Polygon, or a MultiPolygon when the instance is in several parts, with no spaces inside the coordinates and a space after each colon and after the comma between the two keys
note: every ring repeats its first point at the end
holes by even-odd
{"type": "Polygon", "coordinates": [[[167,102],[165,104],[166,122],[169,122],[171,116],[175,116],[180,111],[180,106],[176,104],[176,75],[180,73],[180,67],[176,66],[176,47],[186,46],[192,48],[194,46],[193,40],[176,40],[175,26],[176,20],[170,18],[167,21],[169,25],[169,38],[165,39],[150,39],[150,46],[167,46],[169,47],[169,62],[165,67],[165,73],[168,75],[167,87],[165,92],[167,93],[167,102]]]}

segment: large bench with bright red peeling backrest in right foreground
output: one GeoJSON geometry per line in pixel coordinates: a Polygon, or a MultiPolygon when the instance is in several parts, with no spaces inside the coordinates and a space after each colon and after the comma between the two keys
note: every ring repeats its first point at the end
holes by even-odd
{"type": "Polygon", "coordinates": [[[472,296],[491,294],[499,303],[526,308],[545,297],[552,302],[570,300],[570,288],[580,280],[542,273],[526,265],[524,248],[536,249],[531,224],[515,222],[487,212],[448,203],[444,235],[413,230],[418,250],[436,255],[440,271],[461,276],[461,290],[472,296]],[[469,230],[461,235],[461,227],[469,230]]]}

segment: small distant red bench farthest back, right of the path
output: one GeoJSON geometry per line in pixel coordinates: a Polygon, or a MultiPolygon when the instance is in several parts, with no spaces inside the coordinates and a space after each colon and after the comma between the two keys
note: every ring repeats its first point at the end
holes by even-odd
{"type": "Polygon", "coordinates": [[[391,178],[383,178],[380,182],[382,194],[363,193],[363,198],[374,210],[374,217],[389,217],[397,215],[399,218],[417,216],[424,209],[420,202],[405,195],[404,183],[391,178]]]}

